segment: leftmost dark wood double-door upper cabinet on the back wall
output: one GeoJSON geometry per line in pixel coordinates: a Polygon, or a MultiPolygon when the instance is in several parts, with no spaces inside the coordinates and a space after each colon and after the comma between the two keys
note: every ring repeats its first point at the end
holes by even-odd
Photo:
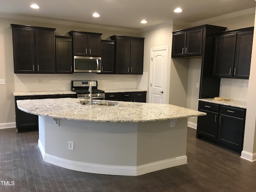
{"type": "Polygon", "coordinates": [[[55,73],[55,28],[11,24],[14,73],[55,73]]]}

